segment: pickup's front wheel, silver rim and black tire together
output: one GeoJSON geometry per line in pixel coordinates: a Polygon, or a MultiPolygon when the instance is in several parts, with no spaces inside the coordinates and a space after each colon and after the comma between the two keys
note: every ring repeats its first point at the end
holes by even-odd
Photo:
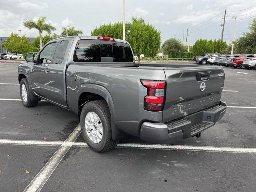
{"type": "Polygon", "coordinates": [[[34,107],[38,104],[39,98],[32,95],[30,92],[28,81],[26,78],[23,78],[20,81],[20,98],[24,106],[34,107]]]}

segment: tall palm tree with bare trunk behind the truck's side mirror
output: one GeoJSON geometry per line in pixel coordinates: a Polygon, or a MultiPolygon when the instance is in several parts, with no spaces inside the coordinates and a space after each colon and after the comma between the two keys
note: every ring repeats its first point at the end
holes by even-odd
{"type": "Polygon", "coordinates": [[[39,41],[40,41],[40,49],[43,48],[42,43],[42,32],[46,31],[48,34],[51,34],[52,31],[56,30],[54,26],[50,23],[46,23],[46,16],[40,16],[38,20],[35,22],[33,20],[28,20],[23,22],[23,25],[28,29],[37,29],[39,32],[39,41]]]}

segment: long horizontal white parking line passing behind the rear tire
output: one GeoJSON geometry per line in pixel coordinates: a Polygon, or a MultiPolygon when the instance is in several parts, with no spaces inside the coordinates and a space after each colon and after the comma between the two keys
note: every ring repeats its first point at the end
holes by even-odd
{"type": "MultiPolygon", "coordinates": [[[[0,139],[0,144],[30,145],[30,146],[76,146],[76,147],[88,146],[86,142],[71,142],[67,140],[63,142],[63,141],[34,141],[34,140],[31,141],[31,140],[0,139]]],[[[134,148],[134,149],[185,150],[185,151],[253,153],[253,154],[256,153],[256,148],[234,148],[234,147],[214,147],[214,146],[119,143],[116,147],[117,148],[134,148]]]]}

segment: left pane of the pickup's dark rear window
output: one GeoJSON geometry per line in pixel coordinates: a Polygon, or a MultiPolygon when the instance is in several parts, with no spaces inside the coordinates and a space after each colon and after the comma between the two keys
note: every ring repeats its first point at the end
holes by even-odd
{"type": "Polygon", "coordinates": [[[96,40],[79,40],[73,57],[74,62],[101,62],[100,44],[96,40]]]}

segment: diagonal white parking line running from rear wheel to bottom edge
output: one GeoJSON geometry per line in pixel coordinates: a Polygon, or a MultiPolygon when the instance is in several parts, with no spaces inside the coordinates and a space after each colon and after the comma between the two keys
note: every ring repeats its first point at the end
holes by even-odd
{"type": "Polygon", "coordinates": [[[44,165],[40,172],[34,177],[24,192],[39,192],[42,189],[45,182],[51,176],[52,172],[54,172],[80,133],[81,128],[79,124],[70,136],[68,136],[68,138],[62,143],[60,148],[58,148],[58,150],[53,154],[50,160],[44,165]]]}

